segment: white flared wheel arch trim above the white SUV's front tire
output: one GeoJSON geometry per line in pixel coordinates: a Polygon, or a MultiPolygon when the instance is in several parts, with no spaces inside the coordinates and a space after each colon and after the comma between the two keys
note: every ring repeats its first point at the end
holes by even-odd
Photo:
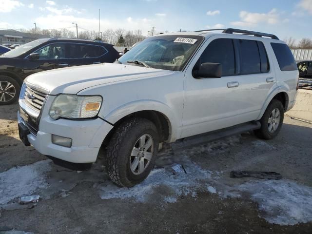
{"type": "Polygon", "coordinates": [[[139,111],[157,111],[168,119],[169,129],[171,130],[168,139],[169,142],[175,141],[181,135],[181,118],[176,116],[168,105],[157,100],[147,99],[131,101],[117,107],[106,116],[103,116],[103,113],[100,112],[99,117],[115,124],[121,118],[139,111]]]}

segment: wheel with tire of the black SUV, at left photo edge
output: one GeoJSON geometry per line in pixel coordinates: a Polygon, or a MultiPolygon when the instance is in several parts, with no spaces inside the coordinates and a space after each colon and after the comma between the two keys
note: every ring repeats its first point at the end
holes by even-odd
{"type": "Polygon", "coordinates": [[[20,95],[19,83],[8,76],[0,76],[0,105],[14,103],[20,95]]]}

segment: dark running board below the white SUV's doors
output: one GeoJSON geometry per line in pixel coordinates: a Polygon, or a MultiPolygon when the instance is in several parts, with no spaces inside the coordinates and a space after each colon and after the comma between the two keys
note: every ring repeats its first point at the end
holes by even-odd
{"type": "Polygon", "coordinates": [[[182,140],[176,141],[171,144],[174,151],[185,150],[194,146],[203,145],[211,141],[218,140],[223,137],[230,137],[233,135],[249,132],[261,128],[259,121],[253,121],[248,123],[242,123],[234,125],[229,128],[223,128],[209,133],[203,133],[192,137],[186,137],[182,140]]]}

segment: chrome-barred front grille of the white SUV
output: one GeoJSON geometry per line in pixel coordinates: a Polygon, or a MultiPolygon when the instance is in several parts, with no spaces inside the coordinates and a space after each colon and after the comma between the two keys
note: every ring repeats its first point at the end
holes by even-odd
{"type": "Polygon", "coordinates": [[[40,112],[46,96],[45,93],[40,92],[36,88],[26,85],[23,99],[27,106],[40,112]]]}

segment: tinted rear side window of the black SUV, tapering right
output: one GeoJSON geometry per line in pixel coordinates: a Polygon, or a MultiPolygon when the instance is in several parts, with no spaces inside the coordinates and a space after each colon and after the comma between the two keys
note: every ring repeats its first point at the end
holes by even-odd
{"type": "Polygon", "coordinates": [[[96,58],[107,53],[107,50],[102,46],[70,44],[69,58],[96,58]]]}

